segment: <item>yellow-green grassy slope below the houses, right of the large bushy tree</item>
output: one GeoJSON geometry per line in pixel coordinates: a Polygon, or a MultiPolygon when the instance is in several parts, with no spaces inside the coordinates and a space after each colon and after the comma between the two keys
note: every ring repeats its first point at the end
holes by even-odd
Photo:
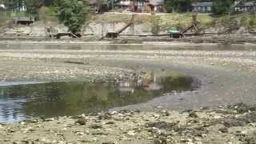
{"type": "MultiPolygon", "coordinates": [[[[130,22],[132,14],[98,14],[90,16],[90,22],[130,22]]],[[[185,28],[190,26],[192,21],[191,13],[166,13],[166,14],[135,14],[135,24],[152,24],[158,25],[161,30],[169,29],[170,27],[185,28]]],[[[210,14],[198,14],[199,25],[203,28],[214,26],[246,26],[250,30],[256,30],[255,14],[234,14],[220,17],[213,17],[210,14]]]]}

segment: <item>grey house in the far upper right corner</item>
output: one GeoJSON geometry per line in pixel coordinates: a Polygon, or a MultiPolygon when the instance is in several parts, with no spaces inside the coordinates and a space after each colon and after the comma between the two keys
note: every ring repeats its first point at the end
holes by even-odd
{"type": "Polygon", "coordinates": [[[238,2],[234,10],[237,12],[256,11],[256,2],[238,2]]]}

